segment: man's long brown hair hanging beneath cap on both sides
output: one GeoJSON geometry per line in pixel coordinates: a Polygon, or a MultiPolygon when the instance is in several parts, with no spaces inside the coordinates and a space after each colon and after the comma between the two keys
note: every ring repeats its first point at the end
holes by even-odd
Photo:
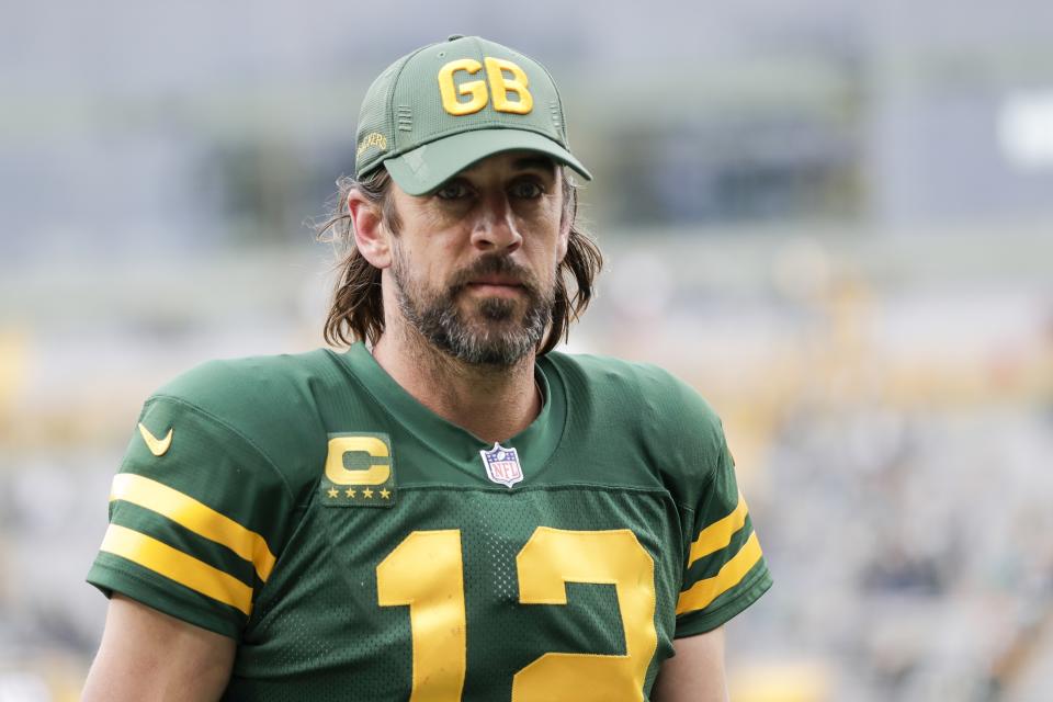
{"type": "MultiPolygon", "coordinates": [[[[559,264],[556,276],[556,295],[552,305],[552,324],[542,339],[537,353],[552,351],[559,339],[570,335],[570,322],[589,306],[593,295],[593,281],[603,268],[603,256],[592,238],[578,228],[578,192],[564,172],[563,222],[570,218],[570,238],[567,254],[559,264]],[[567,287],[573,279],[574,293],[567,287]]],[[[335,244],[339,254],[337,269],[340,276],[332,294],[332,305],[326,318],[325,339],[331,346],[350,344],[367,340],[376,343],[384,333],[384,299],[381,295],[381,270],[365,260],[354,246],[354,224],[348,211],[348,194],[358,190],[381,208],[383,220],[392,234],[398,234],[401,222],[395,210],[394,199],[388,196],[392,177],[387,169],[378,168],[360,181],[344,176],[337,181],[337,200],[332,212],[318,225],[318,237],[335,244]]]]}

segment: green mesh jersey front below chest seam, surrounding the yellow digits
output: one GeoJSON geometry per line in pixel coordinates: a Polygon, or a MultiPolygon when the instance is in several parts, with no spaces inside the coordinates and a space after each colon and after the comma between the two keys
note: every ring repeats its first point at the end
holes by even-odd
{"type": "Polygon", "coordinates": [[[624,655],[614,587],[567,586],[566,605],[521,604],[516,556],[541,526],[631,528],[655,561],[658,661],[671,653],[680,537],[658,492],[599,488],[409,488],[397,510],[308,510],[260,602],[235,665],[229,699],[406,700],[412,680],[408,607],[377,604],[377,564],[407,535],[461,534],[466,613],[465,700],[507,700],[513,675],[546,653],[624,655]],[[407,519],[410,516],[411,519],[407,519]],[[290,637],[290,634],[294,635],[290,637]]]}

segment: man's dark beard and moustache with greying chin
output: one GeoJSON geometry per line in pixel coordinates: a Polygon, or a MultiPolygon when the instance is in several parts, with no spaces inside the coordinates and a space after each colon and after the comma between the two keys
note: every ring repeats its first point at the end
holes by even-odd
{"type": "Polygon", "coordinates": [[[555,285],[543,286],[506,256],[487,254],[458,271],[444,290],[430,291],[414,278],[401,251],[396,248],[394,253],[392,276],[398,308],[433,347],[465,363],[503,367],[537,348],[552,320],[555,285]],[[468,301],[473,308],[464,314],[458,299],[468,283],[483,275],[516,276],[525,299],[468,301]]]}

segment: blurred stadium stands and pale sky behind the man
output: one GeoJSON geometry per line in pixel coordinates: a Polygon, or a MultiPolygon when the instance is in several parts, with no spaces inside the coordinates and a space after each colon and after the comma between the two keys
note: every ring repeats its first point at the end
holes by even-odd
{"type": "Polygon", "coordinates": [[[321,343],[309,222],[449,33],[559,80],[608,253],[571,351],[724,417],[775,577],[736,702],[1053,699],[1048,0],[20,3],[0,23],[0,702],[76,699],[140,403],[321,343]]]}

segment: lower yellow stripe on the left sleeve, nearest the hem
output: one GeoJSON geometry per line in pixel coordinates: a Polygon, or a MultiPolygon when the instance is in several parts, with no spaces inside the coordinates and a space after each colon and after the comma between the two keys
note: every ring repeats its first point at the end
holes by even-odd
{"type": "Polygon", "coordinates": [[[127,558],[191,590],[237,608],[246,615],[252,611],[252,588],[151,536],[120,524],[110,524],[100,550],[127,558]]]}

